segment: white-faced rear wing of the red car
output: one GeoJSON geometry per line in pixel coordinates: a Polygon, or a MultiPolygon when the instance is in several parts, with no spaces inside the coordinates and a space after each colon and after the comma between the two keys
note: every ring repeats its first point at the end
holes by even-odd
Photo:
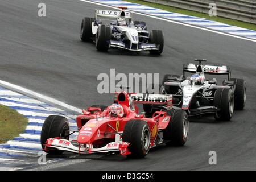
{"type": "Polygon", "coordinates": [[[172,109],[172,95],[161,94],[143,94],[137,93],[131,95],[132,100],[135,103],[151,104],[151,105],[166,105],[167,110],[172,109]]]}

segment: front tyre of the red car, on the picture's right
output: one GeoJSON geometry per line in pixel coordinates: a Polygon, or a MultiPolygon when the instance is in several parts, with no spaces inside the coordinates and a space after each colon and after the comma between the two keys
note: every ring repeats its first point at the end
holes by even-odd
{"type": "Polygon", "coordinates": [[[123,142],[129,142],[127,157],[144,158],[150,150],[150,129],[146,121],[131,120],[125,125],[123,142]]]}

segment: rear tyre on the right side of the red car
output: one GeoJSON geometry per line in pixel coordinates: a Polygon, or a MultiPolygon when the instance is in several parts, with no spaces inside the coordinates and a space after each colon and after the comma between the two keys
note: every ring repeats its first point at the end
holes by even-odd
{"type": "Polygon", "coordinates": [[[163,139],[167,140],[167,146],[184,146],[188,139],[189,122],[184,110],[168,110],[167,115],[171,121],[163,130],[163,139]]]}

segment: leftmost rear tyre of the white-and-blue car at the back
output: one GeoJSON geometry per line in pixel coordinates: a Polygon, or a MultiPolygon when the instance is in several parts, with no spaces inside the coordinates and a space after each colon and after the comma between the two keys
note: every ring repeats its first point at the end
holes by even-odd
{"type": "Polygon", "coordinates": [[[88,42],[92,40],[93,36],[92,33],[92,23],[94,22],[94,18],[83,18],[80,28],[80,38],[82,41],[88,42]]]}

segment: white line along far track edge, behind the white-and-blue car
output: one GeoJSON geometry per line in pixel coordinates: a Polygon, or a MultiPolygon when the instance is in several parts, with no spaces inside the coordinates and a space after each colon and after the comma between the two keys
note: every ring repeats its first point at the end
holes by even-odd
{"type": "MultiPolygon", "coordinates": [[[[117,7],[110,6],[110,5],[104,5],[104,4],[100,3],[100,2],[92,2],[92,1],[87,1],[87,0],[79,0],[79,1],[87,2],[87,3],[92,3],[92,4],[94,4],[94,5],[99,5],[99,6],[111,7],[111,8],[113,8],[113,9],[119,10],[119,8],[117,8],[117,7]]],[[[133,10],[130,10],[130,11],[132,11],[134,14],[138,14],[138,15],[142,15],[142,16],[148,16],[148,17],[150,17],[150,18],[155,18],[155,19],[160,19],[160,20],[163,20],[163,21],[166,21],[166,22],[181,24],[181,25],[183,25],[183,26],[192,27],[192,28],[197,28],[197,29],[200,29],[200,30],[205,30],[205,31],[213,32],[213,33],[216,33],[216,34],[221,34],[221,35],[231,36],[231,37],[233,37],[233,38],[238,38],[238,39],[242,39],[242,40],[249,40],[249,41],[251,41],[251,42],[256,42],[256,40],[253,40],[253,39],[243,38],[243,37],[237,36],[237,35],[226,34],[225,32],[210,30],[210,29],[208,29],[208,28],[193,26],[192,24],[186,24],[186,23],[176,22],[175,20],[169,20],[169,19],[164,19],[164,18],[160,18],[160,17],[157,17],[157,16],[152,16],[152,15],[147,15],[147,14],[143,14],[143,13],[138,13],[138,12],[133,11],[133,10]]]]}

